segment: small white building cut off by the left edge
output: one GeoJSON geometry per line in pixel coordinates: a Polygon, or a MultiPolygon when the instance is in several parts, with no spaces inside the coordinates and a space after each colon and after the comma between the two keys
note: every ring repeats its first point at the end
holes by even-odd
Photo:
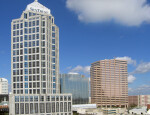
{"type": "Polygon", "coordinates": [[[0,94],[8,94],[8,80],[0,78],[0,94]]]}

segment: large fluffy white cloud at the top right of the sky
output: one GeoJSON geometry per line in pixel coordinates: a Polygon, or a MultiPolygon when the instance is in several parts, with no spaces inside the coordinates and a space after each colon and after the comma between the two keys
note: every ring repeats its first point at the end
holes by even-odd
{"type": "Polygon", "coordinates": [[[67,0],[66,6],[83,22],[95,23],[114,20],[126,26],[150,22],[147,0],[67,0]]]}

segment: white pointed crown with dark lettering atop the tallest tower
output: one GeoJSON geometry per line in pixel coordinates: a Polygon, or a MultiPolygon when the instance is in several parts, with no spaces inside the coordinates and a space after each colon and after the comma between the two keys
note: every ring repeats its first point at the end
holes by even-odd
{"type": "Polygon", "coordinates": [[[35,0],[33,3],[27,5],[26,11],[34,11],[43,14],[51,14],[50,9],[40,4],[38,0],[35,0]]]}

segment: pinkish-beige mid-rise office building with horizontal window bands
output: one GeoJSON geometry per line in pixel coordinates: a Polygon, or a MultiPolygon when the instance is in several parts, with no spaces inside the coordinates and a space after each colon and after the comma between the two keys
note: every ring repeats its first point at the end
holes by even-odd
{"type": "Polygon", "coordinates": [[[91,64],[91,102],[99,107],[127,107],[127,61],[101,60],[91,64]]]}

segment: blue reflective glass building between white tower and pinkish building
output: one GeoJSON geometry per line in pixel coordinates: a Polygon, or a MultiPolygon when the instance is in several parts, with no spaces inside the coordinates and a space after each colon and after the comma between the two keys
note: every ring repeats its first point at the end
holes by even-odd
{"type": "Polygon", "coordinates": [[[89,78],[80,74],[60,74],[61,93],[72,94],[72,104],[89,103],[89,78]]]}

